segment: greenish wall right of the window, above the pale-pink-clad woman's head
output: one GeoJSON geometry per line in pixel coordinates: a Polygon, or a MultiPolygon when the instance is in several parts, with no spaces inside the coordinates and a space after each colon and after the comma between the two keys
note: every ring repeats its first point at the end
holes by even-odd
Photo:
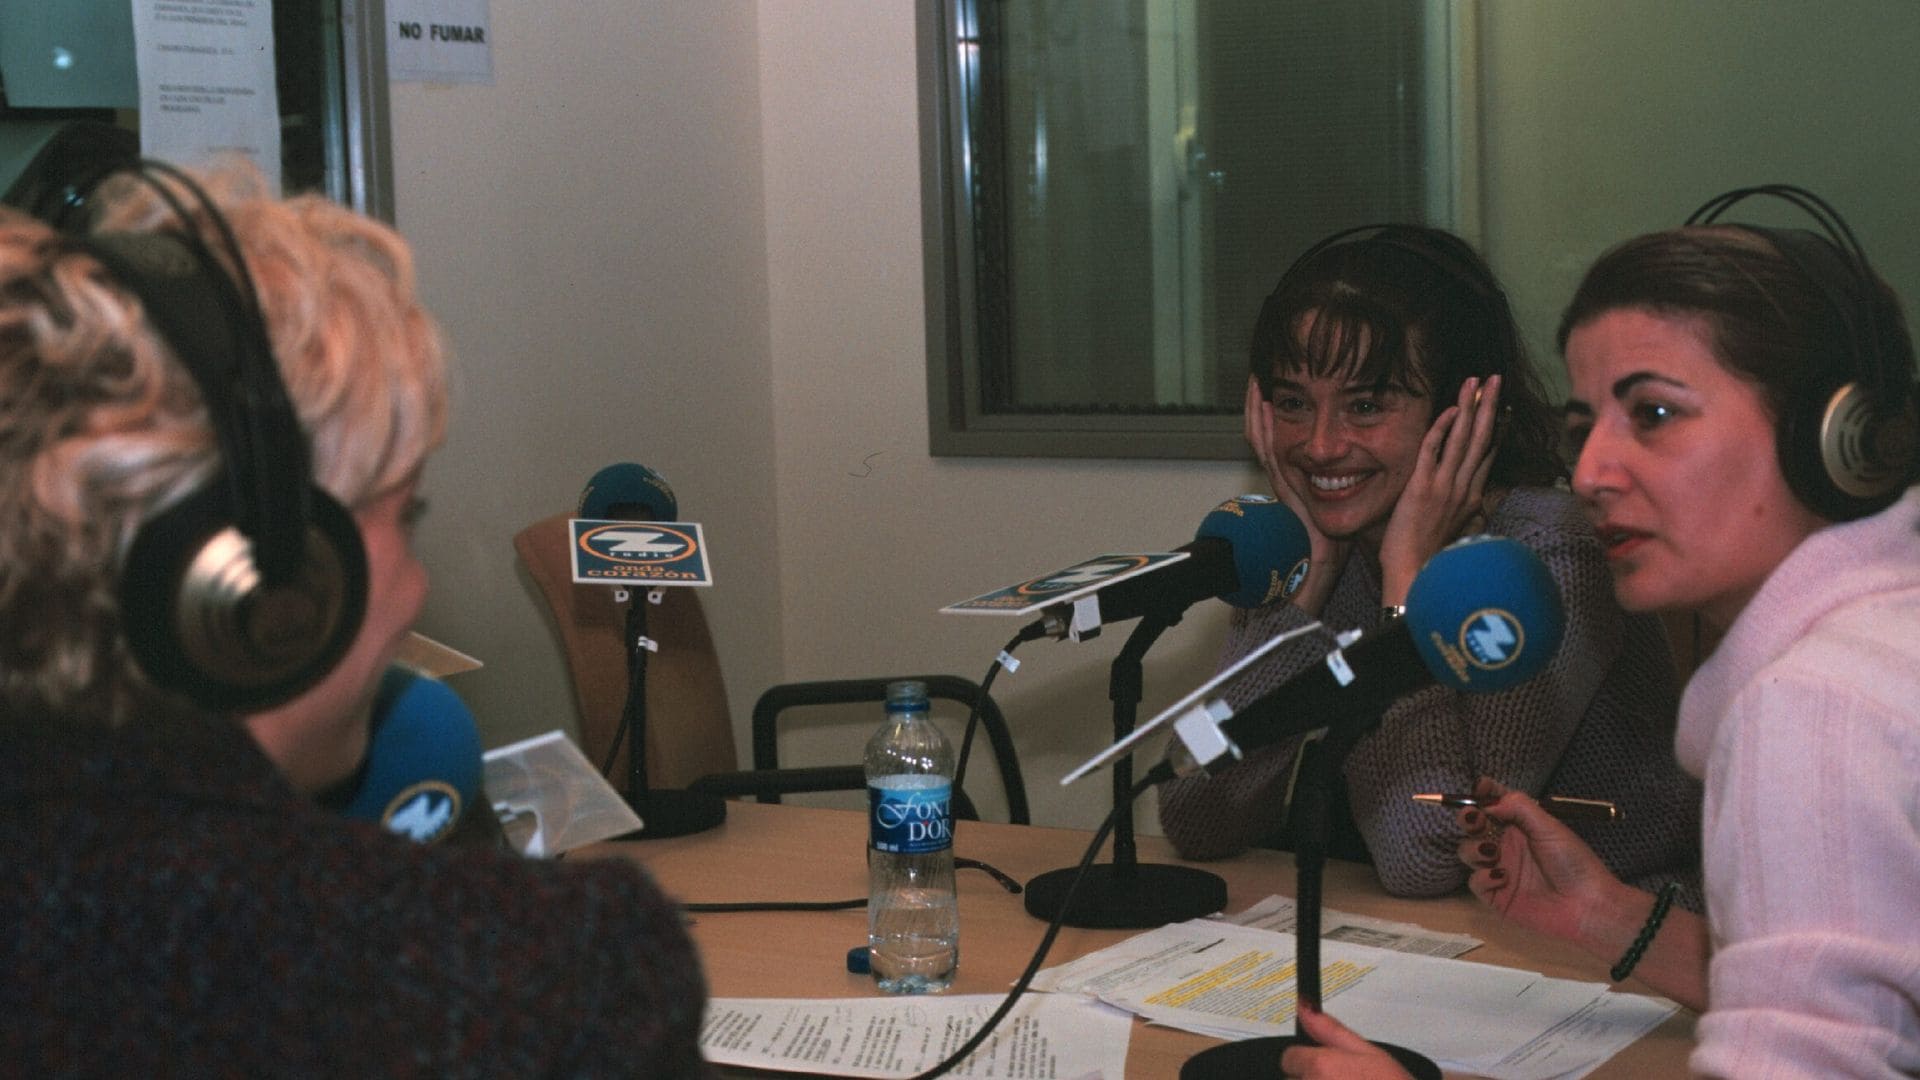
{"type": "MultiPolygon", "coordinates": [[[[1484,250],[1555,382],[1553,331],[1588,263],[1736,186],[1822,194],[1895,290],[1920,298],[1908,242],[1920,4],[1490,0],[1480,12],[1484,250]]],[[[1770,200],[1736,219],[1811,225],[1770,200]]]]}

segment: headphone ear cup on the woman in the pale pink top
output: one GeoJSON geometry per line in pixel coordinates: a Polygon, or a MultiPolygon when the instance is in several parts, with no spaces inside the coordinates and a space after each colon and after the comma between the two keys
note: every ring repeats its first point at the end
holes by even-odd
{"type": "Polygon", "coordinates": [[[1910,394],[1876,417],[1872,394],[1847,382],[1780,417],[1780,471],[1814,513],[1853,521],[1893,505],[1912,482],[1916,436],[1910,394]]]}

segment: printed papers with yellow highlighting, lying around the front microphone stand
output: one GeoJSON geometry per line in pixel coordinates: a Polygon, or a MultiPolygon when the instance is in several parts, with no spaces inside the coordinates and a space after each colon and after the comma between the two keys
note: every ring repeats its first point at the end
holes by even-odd
{"type": "MultiPolygon", "coordinates": [[[[1292,934],[1194,919],[1050,967],[1033,988],[1085,994],[1156,1024],[1225,1040],[1290,1036],[1294,947],[1292,934]]],[[[1670,1001],[1615,994],[1603,982],[1327,936],[1321,999],[1369,1040],[1496,1080],[1584,1076],[1674,1011],[1670,1001]]]]}

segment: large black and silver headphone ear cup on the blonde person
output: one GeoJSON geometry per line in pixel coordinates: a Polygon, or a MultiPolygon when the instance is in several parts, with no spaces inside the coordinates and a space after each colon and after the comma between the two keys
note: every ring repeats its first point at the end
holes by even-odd
{"type": "Polygon", "coordinates": [[[305,555],[261,580],[219,479],[144,523],[121,575],[121,617],[156,684],[223,711],[255,711],[319,682],[367,615],[359,527],[313,488],[305,555]]]}

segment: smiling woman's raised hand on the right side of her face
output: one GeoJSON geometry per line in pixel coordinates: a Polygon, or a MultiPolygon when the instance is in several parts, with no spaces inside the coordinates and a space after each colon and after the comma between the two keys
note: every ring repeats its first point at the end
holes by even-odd
{"type": "Polygon", "coordinates": [[[1480,513],[1494,467],[1494,421],[1500,377],[1469,379],[1421,440],[1407,486],[1380,538],[1380,601],[1405,603],[1407,586],[1427,559],[1452,544],[1480,513]]]}

